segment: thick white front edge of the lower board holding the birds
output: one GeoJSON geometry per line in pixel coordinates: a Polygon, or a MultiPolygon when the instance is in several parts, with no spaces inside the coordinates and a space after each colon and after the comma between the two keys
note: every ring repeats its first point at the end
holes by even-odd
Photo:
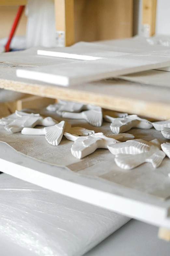
{"type": "Polygon", "coordinates": [[[65,196],[170,229],[170,200],[162,201],[105,180],[77,175],[19,154],[0,143],[1,170],[65,196]]]}

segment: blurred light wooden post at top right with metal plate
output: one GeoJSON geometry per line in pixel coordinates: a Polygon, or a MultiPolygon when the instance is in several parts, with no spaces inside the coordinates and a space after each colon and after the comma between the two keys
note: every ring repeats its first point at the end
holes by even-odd
{"type": "Polygon", "coordinates": [[[142,24],[143,29],[148,28],[150,36],[155,34],[157,0],[143,0],[142,2],[142,24]]]}

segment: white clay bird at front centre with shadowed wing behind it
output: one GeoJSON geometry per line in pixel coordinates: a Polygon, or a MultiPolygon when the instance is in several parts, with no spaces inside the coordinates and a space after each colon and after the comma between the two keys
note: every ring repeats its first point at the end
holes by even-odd
{"type": "Polygon", "coordinates": [[[104,135],[102,132],[98,132],[76,139],[71,147],[71,153],[74,157],[81,159],[92,154],[97,148],[107,148],[108,145],[132,138],[134,136],[128,133],[104,135]]]}

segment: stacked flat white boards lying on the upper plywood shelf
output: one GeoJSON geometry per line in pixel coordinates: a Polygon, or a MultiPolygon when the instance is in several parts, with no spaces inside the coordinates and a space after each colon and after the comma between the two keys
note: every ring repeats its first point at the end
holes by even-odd
{"type": "MultiPolygon", "coordinates": [[[[126,49],[104,43],[77,43],[71,47],[37,50],[37,55],[55,59],[54,63],[33,68],[17,69],[17,77],[50,84],[69,86],[79,83],[120,77],[151,69],[169,71],[170,48],[145,45],[144,49],[126,49]],[[135,52],[135,53],[134,53],[135,52]],[[137,52],[137,53],[136,53],[137,52]],[[164,70],[163,69],[163,70],[164,70]]],[[[131,41],[133,42],[133,40],[131,41]]],[[[138,41],[137,41],[138,42],[138,41]]],[[[136,48],[137,49],[137,42],[136,48]]],[[[119,45],[119,42],[117,43],[119,45]]]]}

